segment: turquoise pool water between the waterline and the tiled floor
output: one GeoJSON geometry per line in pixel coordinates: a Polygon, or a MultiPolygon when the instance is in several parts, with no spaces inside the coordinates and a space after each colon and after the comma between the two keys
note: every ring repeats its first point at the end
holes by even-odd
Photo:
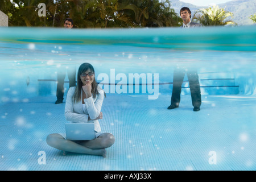
{"type": "MultiPolygon", "coordinates": [[[[108,75],[98,80],[102,84],[142,84],[139,90],[135,91],[135,86],[130,89],[134,94],[148,93],[147,89],[142,92],[149,81],[142,77],[147,74],[153,83],[159,83],[160,94],[170,93],[177,64],[198,70],[203,94],[255,93],[254,26],[205,27],[189,32],[180,28],[1,28],[0,36],[1,103],[13,97],[55,94],[56,68],[74,64],[78,68],[84,62],[94,65],[96,78],[101,73],[108,75]],[[125,77],[116,80],[119,73],[125,77]],[[138,73],[141,80],[129,80],[129,73],[138,73]],[[154,80],[157,74],[159,78],[154,80]]],[[[183,94],[188,94],[188,82],[183,87],[183,94]]],[[[106,88],[110,93],[110,85],[106,88]]],[[[129,93],[128,89],[118,93],[129,93]]]]}

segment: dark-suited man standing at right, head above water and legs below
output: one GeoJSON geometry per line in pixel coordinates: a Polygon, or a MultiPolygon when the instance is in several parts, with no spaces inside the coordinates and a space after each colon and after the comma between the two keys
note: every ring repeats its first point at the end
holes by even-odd
{"type": "MultiPolygon", "coordinates": [[[[180,9],[180,16],[183,19],[183,25],[181,26],[181,28],[192,28],[202,26],[200,23],[191,22],[191,11],[189,10],[188,7],[183,7],[180,9]]],[[[186,73],[189,81],[189,88],[191,91],[192,105],[194,106],[193,111],[200,110],[201,91],[197,71],[194,68],[184,68],[179,67],[179,65],[177,65],[177,68],[174,69],[171,105],[168,106],[167,109],[175,109],[176,107],[179,107],[181,85],[183,84],[183,79],[186,73]]]]}

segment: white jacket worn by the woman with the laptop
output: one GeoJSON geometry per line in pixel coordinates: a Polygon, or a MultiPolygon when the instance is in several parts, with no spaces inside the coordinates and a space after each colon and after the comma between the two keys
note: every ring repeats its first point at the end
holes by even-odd
{"type": "Polygon", "coordinates": [[[65,118],[67,121],[71,121],[73,123],[93,122],[94,130],[96,132],[101,132],[100,123],[96,118],[98,115],[100,115],[101,106],[104,100],[104,90],[98,90],[99,94],[97,94],[95,98],[85,98],[85,109],[82,109],[82,100],[80,102],[73,102],[73,94],[75,93],[75,88],[76,87],[74,86],[68,90],[65,104],[65,118]],[[90,120],[88,121],[89,116],[90,120]]]}

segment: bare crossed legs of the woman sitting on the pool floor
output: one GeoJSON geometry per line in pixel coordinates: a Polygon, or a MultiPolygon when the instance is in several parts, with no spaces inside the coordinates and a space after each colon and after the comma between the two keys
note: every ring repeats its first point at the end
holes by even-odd
{"type": "Polygon", "coordinates": [[[114,136],[112,134],[102,134],[94,140],[72,141],[64,139],[60,134],[50,134],[47,136],[46,142],[49,146],[65,152],[101,155],[105,158],[105,148],[113,145],[114,136]]]}

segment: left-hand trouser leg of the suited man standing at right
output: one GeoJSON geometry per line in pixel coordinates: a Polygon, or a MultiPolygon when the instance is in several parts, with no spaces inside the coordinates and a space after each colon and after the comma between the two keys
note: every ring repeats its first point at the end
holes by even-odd
{"type": "Polygon", "coordinates": [[[181,85],[183,84],[184,76],[185,76],[185,69],[183,68],[174,69],[174,81],[173,81],[173,87],[172,87],[171,105],[168,106],[167,109],[175,109],[176,107],[179,107],[181,85]]]}

